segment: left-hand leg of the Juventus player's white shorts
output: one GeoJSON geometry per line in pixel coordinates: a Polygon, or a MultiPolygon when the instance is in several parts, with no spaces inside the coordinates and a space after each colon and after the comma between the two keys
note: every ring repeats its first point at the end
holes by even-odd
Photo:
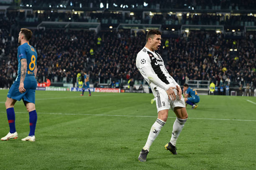
{"type": "Polygon", "coordinates": [[[161,110],[170,109],[170,100],[164,89],[157,87],[156,89],[153,90],[153,94],[156,99],[157,113],[161,110]]]}

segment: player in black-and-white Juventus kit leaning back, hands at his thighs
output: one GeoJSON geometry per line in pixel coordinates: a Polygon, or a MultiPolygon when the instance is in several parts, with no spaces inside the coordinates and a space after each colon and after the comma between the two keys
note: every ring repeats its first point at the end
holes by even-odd
{"type": "Polygon", "coordinates": [[[159,135],[162,126],[165,125],[170,108],[176,114],[177,119],[173,124],[170,142],[165,145],[165,149],[172,154],[177,154],[176,141],[188,119],[182,90],[166,70],[161,56],[156,53],[160,45],[161,32],[150,30],[147,33],[146,45],[139,51],[136,58],[136,67],[152,89],[158,112],[158,118],[150,129],[147,142],[139,153],[138,161],[140,162],[146,162],[149,148],[159,135]]]}

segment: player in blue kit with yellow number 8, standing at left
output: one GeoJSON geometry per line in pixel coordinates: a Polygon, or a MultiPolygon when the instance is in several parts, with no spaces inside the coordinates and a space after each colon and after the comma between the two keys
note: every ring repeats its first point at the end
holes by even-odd
{"type": "Polygon", "coordinates": [[[1,140],[9,140],[18,138],[15,127],[14,104],[16,101],[23,100],[29,112],[30,132],[28,137],[21,139],[22,141],[35,141],[34,131],[37,124],[37,111],[35,107],[36,88],[37,88],[37,51],[29,45],[32,37],[32,31],[21,29],[19,32],[18,42],[18,76],[14,84],[11,85],[7,99],[5,102],[7,119],[9,122],[10,132],[1,140]]]}

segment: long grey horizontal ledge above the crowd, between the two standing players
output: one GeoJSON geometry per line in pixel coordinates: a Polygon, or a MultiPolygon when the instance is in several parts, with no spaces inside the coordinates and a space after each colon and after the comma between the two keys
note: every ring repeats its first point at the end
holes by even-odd
{"type": "Polygon", "coordinates": [[[99,31],[100,22],[52,22],[43,21],[37,28],[47,28],[47,29],[88,29],[99,31]]]}

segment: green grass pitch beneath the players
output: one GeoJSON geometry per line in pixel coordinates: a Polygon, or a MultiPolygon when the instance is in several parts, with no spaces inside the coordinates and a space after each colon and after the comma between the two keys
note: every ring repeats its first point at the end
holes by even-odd
{"type": "MultiPolygon", "coordinates": [[[[0,90],[0,137],[9,126],[0,90]]],[[[169,142],[174,113],[150,148],[147,162],[138,162],[149,130],[156,121],[152,94],[37,91],[36,142],[28,136],[29,115],[16,102],[19,138],[0,141],[0,169],[255,169],[256,98],[201,96],[177,141],[169,142]],[[248,102],[250,100],[254,103],[248,102]],[[246,121],[253,120],[253,121],[246,121]]]]}

